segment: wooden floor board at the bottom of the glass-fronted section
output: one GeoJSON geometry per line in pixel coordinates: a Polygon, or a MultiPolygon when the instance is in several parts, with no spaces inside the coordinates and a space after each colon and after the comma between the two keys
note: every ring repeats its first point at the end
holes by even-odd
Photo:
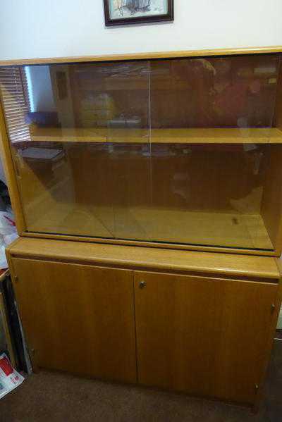
{"type": "Polygon", "coordinates": [[[273,250],[259,214],[56,204],[30,223],[32,232],[273,250]]]}

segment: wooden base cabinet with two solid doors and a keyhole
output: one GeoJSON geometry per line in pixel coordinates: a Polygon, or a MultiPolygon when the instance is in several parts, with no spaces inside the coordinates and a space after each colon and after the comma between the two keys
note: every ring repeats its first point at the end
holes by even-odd
{"type": "Polygon", "coordinates": [[[35,366],[258,402],[274,258],[20,238],[8,260],[35,366]]]}

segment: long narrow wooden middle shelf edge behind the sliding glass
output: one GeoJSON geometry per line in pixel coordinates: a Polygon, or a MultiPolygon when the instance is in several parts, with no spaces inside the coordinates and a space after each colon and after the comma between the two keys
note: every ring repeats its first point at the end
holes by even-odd
{"type": "Polygon", "coordinates": [[[32,128],[32,142],[93,142],[152,144],[281,144],[277,128],[192,128],[192,129],[61,129],[32,128]]]}

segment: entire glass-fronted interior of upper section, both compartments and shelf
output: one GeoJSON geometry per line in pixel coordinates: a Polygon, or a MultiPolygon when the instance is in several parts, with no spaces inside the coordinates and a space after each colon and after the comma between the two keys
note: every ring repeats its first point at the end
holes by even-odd
{"type": "Polygon", "coordinates": [[[28,66],[27,231],[278,249],[280,60],[28,66]]]}

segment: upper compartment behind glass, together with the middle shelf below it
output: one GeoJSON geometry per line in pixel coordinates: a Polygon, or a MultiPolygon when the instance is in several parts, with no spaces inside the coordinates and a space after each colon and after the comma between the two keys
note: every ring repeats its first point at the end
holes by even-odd
{"type": "Polygon", "coordinates": [[[52,66],[56,104],[68,125],[49,130],[33,125],[31,139],[281,142],[272,121],[278,61],[278,56],[237,56],[52,66]]]}

